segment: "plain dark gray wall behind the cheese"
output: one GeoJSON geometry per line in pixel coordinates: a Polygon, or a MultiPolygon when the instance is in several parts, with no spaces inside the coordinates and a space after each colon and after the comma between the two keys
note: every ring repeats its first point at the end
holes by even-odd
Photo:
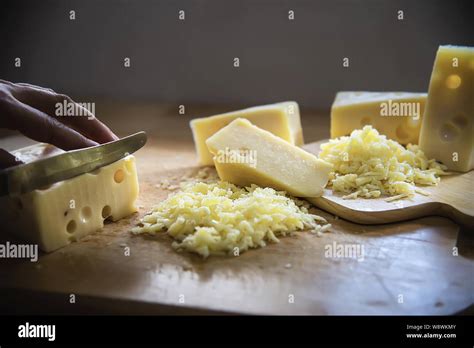
{"type": "Polygon", "coordinates": [[[473,2],[1,1],[0,78],[73,96],[327,108],[338,90],[426,90],[438,45],[474,46],[473,2]]]}

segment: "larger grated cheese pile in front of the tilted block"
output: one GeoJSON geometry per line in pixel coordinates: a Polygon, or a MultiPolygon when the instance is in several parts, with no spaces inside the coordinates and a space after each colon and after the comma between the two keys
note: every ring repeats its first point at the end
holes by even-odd
{"type": "Polygon", "coordinates": [[[308,203],[272,188],[240,188],[223,181],[189,182],[144,216],[132,233],[167,231],[175,239],[175,249],[204,257],[235,255],[236,250],[238,255],[249,248],[264,247],[267,241],[278,242],[277,236],[293,231],[326,231],[331,225],[310,214],[308,208],[308,203]]]}

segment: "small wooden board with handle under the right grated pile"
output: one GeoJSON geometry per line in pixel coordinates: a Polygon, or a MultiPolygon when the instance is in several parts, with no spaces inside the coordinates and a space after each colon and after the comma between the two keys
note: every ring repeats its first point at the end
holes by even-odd
{"type": "MultiPolygon", "coordinates": [[[[318,154],[327,140],[305,145],[318,154]]],[[[387,202],[386,197],[374,199],[343,199],[343,194],[326,188],[322,197],[311,203],[330,213],[362,224],[383,224],[423,216],[446,216],[458,224],[474,228],[474,170],[463,174],[443,176],[437,186],[423,186],[429,196],[416,194],[410,199],[387,202]]]]}

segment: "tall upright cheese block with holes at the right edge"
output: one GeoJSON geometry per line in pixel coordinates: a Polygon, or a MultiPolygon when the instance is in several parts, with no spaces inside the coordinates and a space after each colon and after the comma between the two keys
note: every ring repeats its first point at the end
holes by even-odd
{"type": "Polygon", "coordinates": [[[420,147],[448,169],[474,168],[474,47],[440,46],[431,74],[420,147]]]}

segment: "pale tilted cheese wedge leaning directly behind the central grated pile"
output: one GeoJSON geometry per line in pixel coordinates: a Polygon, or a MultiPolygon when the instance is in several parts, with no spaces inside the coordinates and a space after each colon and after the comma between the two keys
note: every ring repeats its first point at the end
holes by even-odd
{"type": "Polygon", "coordinates": [[[221,180],[256,184],[293,196],[321,196],[332,165],[245,119],[236,119],[206,141],[221,180]]]}

